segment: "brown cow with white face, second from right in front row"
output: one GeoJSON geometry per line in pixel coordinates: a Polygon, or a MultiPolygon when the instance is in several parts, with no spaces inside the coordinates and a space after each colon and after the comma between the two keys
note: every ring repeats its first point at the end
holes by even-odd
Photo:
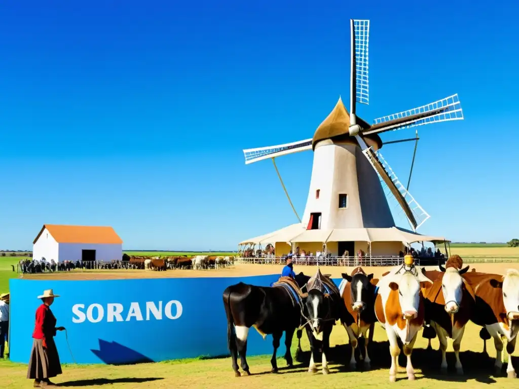
{"type": "Polygon", "coordinates": [[[456,372],[463,374],[463,367],[459,359],[461,339],[465,332],[465,326],[469,322],[475,306],[474,291],[470,284],[463,278],[469,267],[457,269],[440,266],[438,271],[426,271],[426,275],[433,284],[428,284],[422,289],[425,298],[425,320],[434,328],[440,340],[442,351],[442,372],[447,372],[447,338],[453,340],[453,349],[456,354],[456,372]]]}

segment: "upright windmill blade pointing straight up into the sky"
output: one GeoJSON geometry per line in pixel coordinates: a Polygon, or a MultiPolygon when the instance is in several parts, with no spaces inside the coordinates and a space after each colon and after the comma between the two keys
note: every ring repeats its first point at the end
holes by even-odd
{"type": "MultiPolygon", "coordinates": [[[[350,115],[356,114],[356,103],[370,103],[368,82],[368,44],[370,21],[350,19],[351,75],[350,75],[350,115]]],[[[356,124],[353,120],[352,124],[356,124]]]]}

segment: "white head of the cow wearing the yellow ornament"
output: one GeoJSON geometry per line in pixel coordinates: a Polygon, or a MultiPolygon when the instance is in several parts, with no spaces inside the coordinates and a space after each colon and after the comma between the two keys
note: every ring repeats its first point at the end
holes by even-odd
{"type": "Polygon", "coordinates": [[[412,320],[418,316],[418,308],[420,305],[420,290],[426,287],[427,283],[431,283],[424,274],[417,272],[405,272],[404,274],[395,277],[389,283],[389,287],[393,291],[398,291],[398,298],[402,314],[405,319],[412,320]]]}

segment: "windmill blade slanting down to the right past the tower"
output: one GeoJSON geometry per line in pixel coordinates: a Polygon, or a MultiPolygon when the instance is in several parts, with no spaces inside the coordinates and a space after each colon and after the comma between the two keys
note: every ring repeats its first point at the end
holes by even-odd
{"type": "Polygon", "coordinates": [[[374,152],[370,147],[362,152],[370,161],[380,180],[384,182],[389,189],[386,196],[393,196],[394,199],[397,200],[407,220],[409,220],[412,229],[416,231],[430,217],[429,214],[418,204],[411,193],[407,191],[379,151],[374,152]]]}

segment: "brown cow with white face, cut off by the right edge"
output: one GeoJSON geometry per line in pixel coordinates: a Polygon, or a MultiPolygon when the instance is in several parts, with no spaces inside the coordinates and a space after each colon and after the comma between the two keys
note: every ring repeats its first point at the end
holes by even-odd
{"type": "MultiPolygon", "coordinates": [[[[503,366],[503,341],[507,338],[507,352],[515,349],[519,332],[519,270],[509,269],[505,275],[469,272],[465,279],[471,284],[476,303],[471,321],[485,327],[496,346],[496,372],[503,366]]],[[[508,363],[507,375],[515,378],[512,363],[508,363]]]]}

